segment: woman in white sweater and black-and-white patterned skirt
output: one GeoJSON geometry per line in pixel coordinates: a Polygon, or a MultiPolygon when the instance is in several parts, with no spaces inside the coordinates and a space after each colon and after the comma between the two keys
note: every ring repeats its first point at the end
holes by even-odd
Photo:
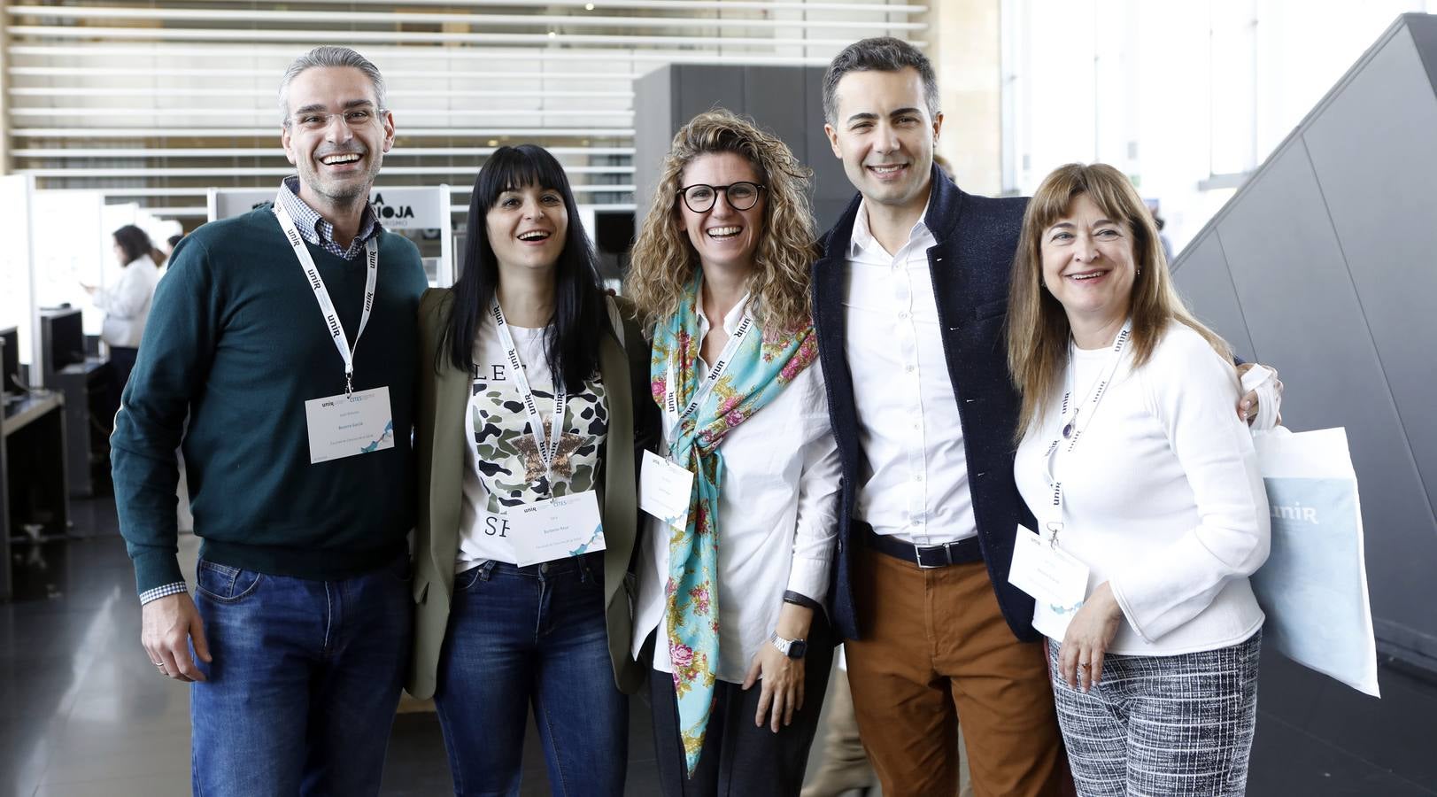
{"type": "Polygon", "coordinates": [[[1013,472],[1039,526],[1012,577],[1062,574],[1033,626],[1078,793],[1242,794],[1267,500],[1230,349],[1183,306],[1118,169],[1069,164],[1038,188],[1007,340],[1013,472]]]}

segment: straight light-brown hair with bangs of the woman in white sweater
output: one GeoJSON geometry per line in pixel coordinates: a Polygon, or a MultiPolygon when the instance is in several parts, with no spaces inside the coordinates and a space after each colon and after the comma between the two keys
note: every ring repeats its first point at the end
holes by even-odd
{"type": "Polygon", "coordinates": [[[1086,194],[1109,220],[1132,233],[1132,365],[1148,362],[1170,322],[1180,322],[1201,335],[1223,359],[1232,359],[1227,342],[1183,304],[1173,287],[1157,223],[1132,182],[1108,164],[1066,164],[1053,169],[1027,202],[1023,231],[1013,257],[1013,287],[1007,300],[1007,368],[1013,386],[1023,395],[1016,434],[1022,439],[1029,425],[1042,421],[1043,409],[1056,395],[1068,365],[1068,314],[1045,290],[1043,231],[1068,215],[1072,202],[1086,194]]]}

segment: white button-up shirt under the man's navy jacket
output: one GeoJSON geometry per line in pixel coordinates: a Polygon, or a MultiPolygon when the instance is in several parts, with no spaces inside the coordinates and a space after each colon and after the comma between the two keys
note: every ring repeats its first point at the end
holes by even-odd
{"type": "Polygon", "coordinates": [[[865,454],[855,517],[878,534],[924,546],[977,536],[963,425],[928,271],[928,248],[937,243],[920,217],[908,241],[890,254],[869,233],[865,200],[854,221],[844,299],[844,343],[865,454]]]}

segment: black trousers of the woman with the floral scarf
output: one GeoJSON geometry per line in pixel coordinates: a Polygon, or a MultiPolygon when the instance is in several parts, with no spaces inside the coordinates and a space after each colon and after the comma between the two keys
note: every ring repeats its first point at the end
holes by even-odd
{"type": "MultiPolygon", "coordinates": [[[[650,636],[650,645],[652,642],[654,638],[650,636]]],[[[647,661],[652,661],[652,653],[647,661]]],[[[815,612],[808,655],[803,656],[803,708],[795,711],[793,724],[780,725],[777,734],[769,730],[769,722],[762,728],[753,724],[759,696],[763,694],[759,684],[744,692],[743,684],[718,681],[714,685],[708,734],[693,778],[685,777],[674,678],[662,671],[650,671],[654,752],[664,796],[796,797],[803,788],[803,771],[808,768],[808,754],[818,731],[818,715],[823,708],[832,665],[833,633],[823,612],[815,612]]]]}

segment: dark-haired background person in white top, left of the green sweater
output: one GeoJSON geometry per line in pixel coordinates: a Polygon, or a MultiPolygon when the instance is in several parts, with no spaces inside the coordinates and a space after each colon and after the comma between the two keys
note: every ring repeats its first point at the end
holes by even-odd
{"type": "Polygon", "coordinates": [[[115,406],[129,382],[139,353],[139,339],[149,317],[149,304],[160,281],[160,270],[149,253],[149,236],[134,224],[126,224],[114,233],[115,260],[119,261],[119,279],[114,286],[96,287],[86,284],[95,306],[105,310],[101,340],[109,348],[109,368],[114,378],[115,406]]]}

